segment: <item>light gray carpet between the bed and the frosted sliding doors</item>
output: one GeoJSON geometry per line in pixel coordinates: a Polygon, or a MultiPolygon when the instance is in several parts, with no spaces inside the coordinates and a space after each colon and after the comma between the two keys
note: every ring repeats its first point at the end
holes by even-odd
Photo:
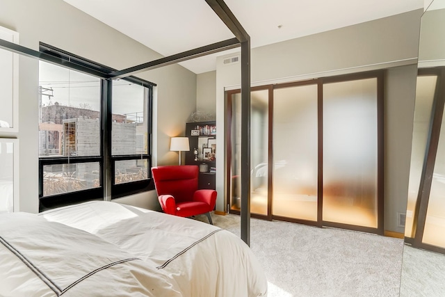
{"type": "MultiPolygon", "coordinates": [[[[239,216],[212,219],[239,236],[239,216]]],[[[254,218],[250,225],[250,248],[263,265],[270,297],[399,296],[402,239],[254,218]]]]}

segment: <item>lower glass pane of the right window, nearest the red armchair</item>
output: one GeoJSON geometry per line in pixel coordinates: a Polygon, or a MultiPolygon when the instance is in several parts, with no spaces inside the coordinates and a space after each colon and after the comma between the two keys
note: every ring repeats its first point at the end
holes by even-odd
{"type": "Polygon", "coordinates": [[[147,168],[148,161],[146,159],[115,161],[115,184],[125,184],[127,182],[137,182],[148,179],[147,168]]]}

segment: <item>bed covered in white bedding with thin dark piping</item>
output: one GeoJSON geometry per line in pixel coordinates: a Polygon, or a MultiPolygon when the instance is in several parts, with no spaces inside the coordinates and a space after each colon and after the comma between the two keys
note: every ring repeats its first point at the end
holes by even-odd
{"type": "Polygon", "coordinates": [[[0,214],[0,296],[266,296],[241,239],[115,202],[0,214]]]}

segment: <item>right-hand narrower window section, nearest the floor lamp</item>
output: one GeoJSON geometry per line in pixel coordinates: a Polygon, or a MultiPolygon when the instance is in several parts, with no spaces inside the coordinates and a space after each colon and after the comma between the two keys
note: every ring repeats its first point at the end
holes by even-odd
{"type": "Polygon", "coordinates": [[[149,179],[151,89],[125,79],[113,81],[111,159],[113,196],[145,188],[149,179]],[[131,183],[131,184],[129,184],[131,183]]]}

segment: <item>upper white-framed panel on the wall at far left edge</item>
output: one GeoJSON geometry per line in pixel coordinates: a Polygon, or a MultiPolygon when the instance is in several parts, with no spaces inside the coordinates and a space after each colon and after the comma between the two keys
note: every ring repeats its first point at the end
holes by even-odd
{"type": "MultiPolygon", "coordinates": [[[[0,26],[0,38],[19,43],[19,33],[0,26]]],[[[19,131],[19,55],[0,49],[0,132],[19,131]]]]}

